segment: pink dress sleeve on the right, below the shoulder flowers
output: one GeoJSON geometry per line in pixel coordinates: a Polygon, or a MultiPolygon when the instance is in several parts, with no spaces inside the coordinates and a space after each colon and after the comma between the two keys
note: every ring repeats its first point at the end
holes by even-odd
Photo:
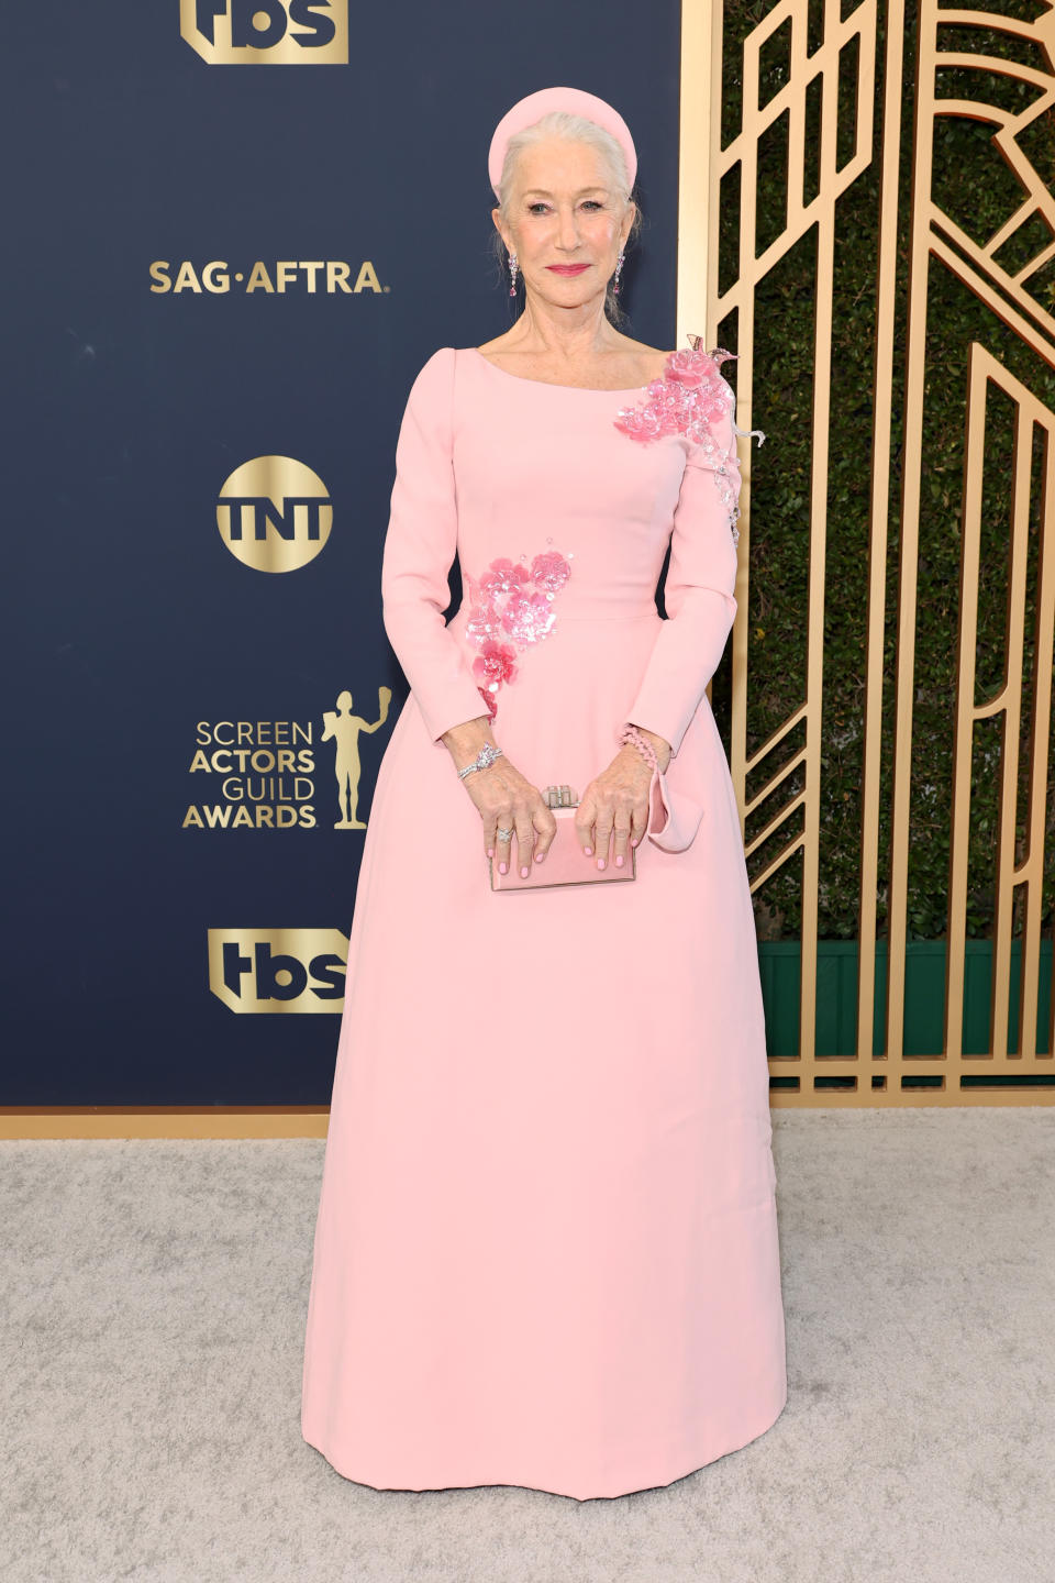
{"type": "MultiPolygon", "coordinates": [[[[626,719],[666,738],[677,754],[724,654],[737,613],[735,519],[740,464],[735,451],[732,388],[728,410],[685,462],[674,511],[671,560],[660,628],[637,697],[626,719]]],[[[758,432],[758,431],[756,431],[758,432]]]]}

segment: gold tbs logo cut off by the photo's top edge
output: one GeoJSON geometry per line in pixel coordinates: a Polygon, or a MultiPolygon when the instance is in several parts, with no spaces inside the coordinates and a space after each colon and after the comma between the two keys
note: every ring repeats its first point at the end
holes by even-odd
{"type": "Polygon", "coordinates": [[[348,0],[180,0],[179,30],[210,66],[348,65],[348,0]]]}

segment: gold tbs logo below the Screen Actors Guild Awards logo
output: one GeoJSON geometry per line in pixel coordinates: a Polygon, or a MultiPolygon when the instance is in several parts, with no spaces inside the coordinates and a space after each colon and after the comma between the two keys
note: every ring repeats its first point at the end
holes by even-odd
{"type": "Polygon", "coordinates": [[[209,929],[209,988],[231,1012],[342,1012],[340,929],[209,929]]]}

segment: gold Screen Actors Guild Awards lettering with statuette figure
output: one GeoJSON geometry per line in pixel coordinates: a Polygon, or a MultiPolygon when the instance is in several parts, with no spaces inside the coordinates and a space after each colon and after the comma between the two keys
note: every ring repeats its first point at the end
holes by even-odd
{"type": "MultiPolygon", "coordinates": [[[[346,690],[323,712],[320,742],[334,742],[334,829],[367,828],[359,818],[359,738],[384,725],[391,698],[391,687],[378,687],[376,720],[354,714],[346,690]]],[[[190,803],[182,828],[315,829],[315,773],[312,720],[199,720],[190,774],[207,776],[209,790],[190,803]]]]}

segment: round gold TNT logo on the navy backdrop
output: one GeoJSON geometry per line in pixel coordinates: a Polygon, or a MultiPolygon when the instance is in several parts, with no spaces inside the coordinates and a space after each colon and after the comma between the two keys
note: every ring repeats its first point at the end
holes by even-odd
{"type": "Polygon", "coordinates": [[[256,571],[297,571],[329,538],[334,503],[326,484],[293,456],[255,456],[220,489],[220,538],[256,571]]]}

